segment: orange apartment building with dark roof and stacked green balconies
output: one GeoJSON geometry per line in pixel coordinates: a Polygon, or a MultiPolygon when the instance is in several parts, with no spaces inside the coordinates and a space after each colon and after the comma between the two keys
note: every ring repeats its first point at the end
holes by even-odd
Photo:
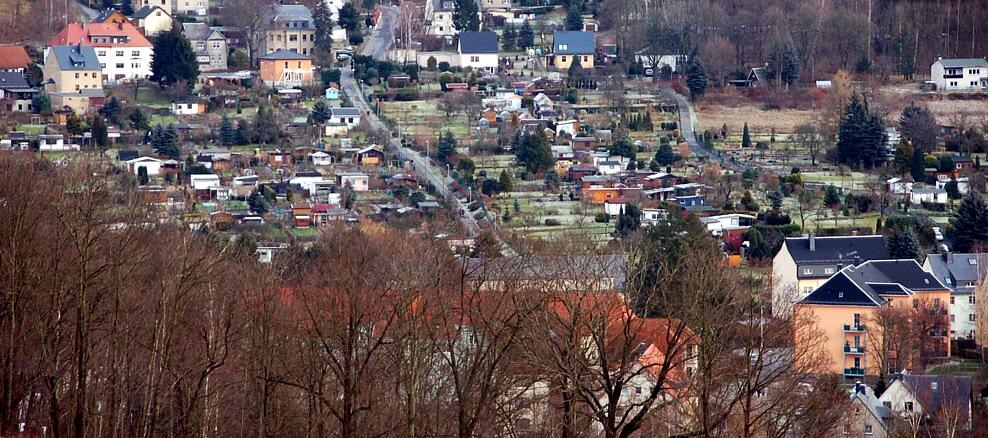
{"type": "MultiPolygon", "coordinates": [[[[896,370],[915,370],[926,363],[950,357],[947,311],[950,290],[916,260],[879,260],[841,269],[794,305],[797,324],[815,324],[816,330],[800,331],[797,349],[820,349],[827,356],[805,356],[800,367],[829,364],[845,377],[877,375],[896,370]],[[884,339],[887,332],[876,322],[879,310],[919,309],[924,321],[922,348],[903,353],[888,352],[882,363],[875,348],[904,340],[884,339]],[[903,356],[899,356],[903,354],[903,356]],[[810,359],[812,357],[812,359],[810,359]],[[887,366],[886,370],[880,369],[887,366]]],[[[802,357],[802,356],[800,356],[802,357]]]]}

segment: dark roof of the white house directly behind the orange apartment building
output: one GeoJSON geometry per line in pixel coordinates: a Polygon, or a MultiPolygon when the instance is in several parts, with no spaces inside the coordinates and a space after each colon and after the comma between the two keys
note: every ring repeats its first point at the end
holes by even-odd
{"type": "Polygon", "coordinates": [[[790,237],[785,245],[796,264],[803,263],[850,263],[860,261],[888,260],[891,257],[885,249],[882,236],[836,236],[814,237],[816,249],[810,251],[809,237],[790,237]]]}

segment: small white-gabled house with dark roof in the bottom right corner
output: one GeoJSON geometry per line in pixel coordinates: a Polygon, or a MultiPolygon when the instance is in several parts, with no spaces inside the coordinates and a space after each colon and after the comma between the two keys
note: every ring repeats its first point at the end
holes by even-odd
{"type": "Polygon", "coordinates": [[[970,376],[899,374],[879,400],[907,424],[924,423],[944,433],[934,436],[953,436],[971,430],[972,386],[970,376]]]}

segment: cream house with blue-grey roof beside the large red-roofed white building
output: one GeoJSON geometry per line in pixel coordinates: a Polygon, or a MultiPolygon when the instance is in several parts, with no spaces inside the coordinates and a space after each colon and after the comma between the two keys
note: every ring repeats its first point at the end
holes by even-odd
{"type": "Polygon", "coordinates": [[[69,107],[85,114],[103,104],[103,80],[96,50],[90,46],[52,46],[45,55],[45,91],[52,109],[69,107]]]}

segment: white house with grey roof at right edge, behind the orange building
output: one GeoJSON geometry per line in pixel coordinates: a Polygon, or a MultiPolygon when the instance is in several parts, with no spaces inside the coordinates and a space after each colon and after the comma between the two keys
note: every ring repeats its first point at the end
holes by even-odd
{"type": "MultiPolygon", "coordinates": [[[[988,253],[930,254],[923,269],[950,288],[950,336],[975,339],[979,315],[975,304],[976,287],[988,278],[988,253]]],[[[982,318],[988,315],[981,315],[982,318]]]]}

